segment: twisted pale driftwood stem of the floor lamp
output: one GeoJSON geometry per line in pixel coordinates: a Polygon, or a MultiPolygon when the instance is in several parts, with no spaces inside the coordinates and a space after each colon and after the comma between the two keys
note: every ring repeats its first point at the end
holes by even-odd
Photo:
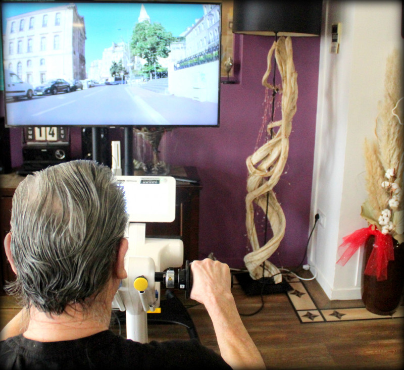
{"type": "Polygon", "coordinates": [[[245,267],[252,279],[274,276],[274,282],[280,283],[282,276],[279,269],[268,258],[276,251],[285,234],[285,215],[276,199],[274,186],[283,173],[289,151],[289,135],[292,129],[292,118],[296,113],[297,73],[293,64],[292,41],[290,37],[280,37],[268,52],[267,71],[262,84],[268,89],[276,89],[282,94],[280,121],[270,122],[268,132],[277,129],[264,145],[258,148],[246,159],[248,168],[246,205],[246,228],[252,252],[244,256],[245,267]],[[275,61],[281,75],[281,88],[267,82],[271,71],[272,55],[275,51],[275,61]],[[268,202],[268,204],[267,204],[268,202]],[[270,223],[273,237],[260,247],[254,220],[254,203],[256,203],[270,223]],[[264,263],[264,275],[263,267],[264,263]]]}

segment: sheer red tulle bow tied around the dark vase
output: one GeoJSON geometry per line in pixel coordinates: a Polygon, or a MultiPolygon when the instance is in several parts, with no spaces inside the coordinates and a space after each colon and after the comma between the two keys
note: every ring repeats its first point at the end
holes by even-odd
{"type": "Polygon", "coordinates": [[[365,244],[369,236],[374,235],[375,241],[372,252],[366,264],[365,274],[375,275],[378,281],[387,279],[388,261],[394,260],[393,238],[390,234],[383,234],[373,225],[368,228],[359,229],[343,238],[342,244],[338,249],[348,245],[337,264],[344,266],[346,261],[365,244]]]}

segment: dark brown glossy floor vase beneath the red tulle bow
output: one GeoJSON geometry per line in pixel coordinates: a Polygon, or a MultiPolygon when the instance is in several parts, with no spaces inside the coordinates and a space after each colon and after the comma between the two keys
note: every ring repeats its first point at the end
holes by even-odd
{"type": "MultiPolygon", "coordinates": [[[[374,248],[375,237],[365,243],[364,269],[374,248]]],[[[402,302],[404,287],[404,243],[393,239],[394,260],[388,262],[387,279],[377,281],[374,275],[363,275],[362,300],[368,311],[378,315],[392,315],[402,302]]]]}

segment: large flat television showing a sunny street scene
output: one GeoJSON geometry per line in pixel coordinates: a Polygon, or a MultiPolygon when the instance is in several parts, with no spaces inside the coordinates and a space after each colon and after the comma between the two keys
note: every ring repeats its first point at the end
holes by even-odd
{"type": "Polygon", "coordinates": [[[1,10],[7,126],[219,125],[219,3],[1,10]]]}

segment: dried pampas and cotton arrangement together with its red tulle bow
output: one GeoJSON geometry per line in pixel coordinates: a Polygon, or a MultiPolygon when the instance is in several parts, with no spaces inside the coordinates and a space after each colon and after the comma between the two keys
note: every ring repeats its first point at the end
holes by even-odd
{"type": "Polygon", "coordinates": [[[402,209],[403,181],[403,88],[402,57],[394,50],[387,59],[384,80],[384,100],[379,104],[375,137],[365,140],[366,190],[368,197],[362,204],[361,216],[368,228],[344,237],[340,245],[346,261],[364,245],[370,235],[375,237],[372,255],[365,275],[375,275],[377,280],[387,279],[388,261],[394,260],[394,242],[404,242],[404,217],[402,209]],[[373,255],[374,254],[374,255],[373,255]]]}

